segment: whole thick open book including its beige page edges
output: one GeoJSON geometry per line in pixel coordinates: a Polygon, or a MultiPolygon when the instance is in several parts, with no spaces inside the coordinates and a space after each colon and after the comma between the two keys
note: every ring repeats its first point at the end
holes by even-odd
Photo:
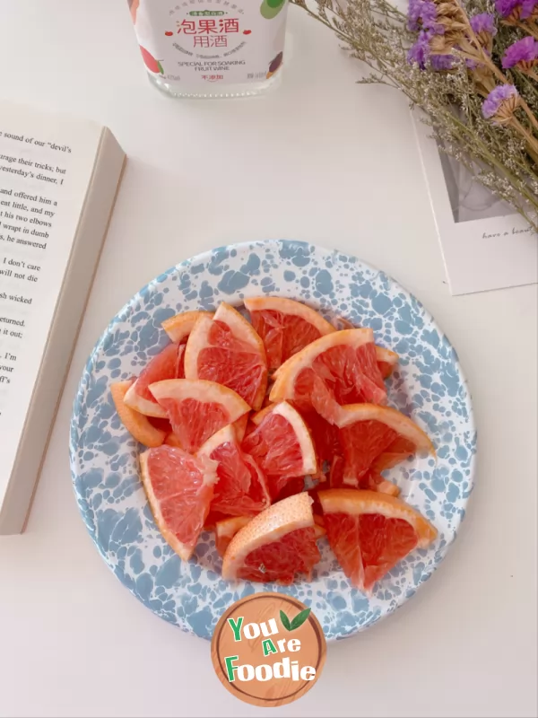
{"type": "Polygon", "coordinates": [[[0,534],[24,528],[125,154],[0,102],[0,534]]]}

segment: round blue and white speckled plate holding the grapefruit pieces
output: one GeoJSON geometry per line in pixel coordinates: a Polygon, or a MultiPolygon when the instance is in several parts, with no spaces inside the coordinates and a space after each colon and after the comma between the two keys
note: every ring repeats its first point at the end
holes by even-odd
{"type": "MultiPolygon", "coordinates": [[[[372,626],[427,581],[456,538],[473,487],[476,432],[471,397],[457,355],[420,302],[358,259],[305,242],[264,241],[221,247],[158,276],[111,321],[82,374],[71,422],[71,468],[82,518],[101,556],[145,606],[189,633],[211,638],[221,613],[254,591],[282,591],[311,605],[327,639],[372,626]],[[140,372],[167,337],[161,321],[178,311],[214,310],[268,293],[291,297],[371,327],[400,366],[389,402],[430,434],[438,460],[412,459],[391,469],[404,499],[438,529],[429,549],[412,552],[377,584],[371,598],[351,588],[328,547],[312,582],[221,580],[213,534],[182,563],[152,521],[138,477],[138,446],[121,425],[109,385],[140,372]]],[[[325,539],[324,539],[325,541],[325,539]]]]}

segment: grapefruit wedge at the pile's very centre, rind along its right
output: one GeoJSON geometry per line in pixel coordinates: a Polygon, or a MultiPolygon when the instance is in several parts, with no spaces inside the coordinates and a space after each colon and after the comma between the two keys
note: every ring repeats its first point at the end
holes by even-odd
{"type": "Polygon", "coordinates": [[[254,431],[247,433],[241,448],[262,469],[273,501],[291,478],[317,472],[316,451],[307,425],[285,401],[266,411],[254,431]]]}

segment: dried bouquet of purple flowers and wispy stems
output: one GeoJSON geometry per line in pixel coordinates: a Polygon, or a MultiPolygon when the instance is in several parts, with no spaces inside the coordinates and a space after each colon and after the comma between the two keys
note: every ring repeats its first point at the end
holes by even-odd
{"type": "Polygon", "coordinates": [[[291,0],[538,231],[538,0],[291,0]]]}

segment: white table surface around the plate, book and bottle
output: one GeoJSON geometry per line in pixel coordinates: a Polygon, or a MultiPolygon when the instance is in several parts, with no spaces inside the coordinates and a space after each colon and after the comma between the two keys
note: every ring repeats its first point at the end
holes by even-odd
{"type": "MultiPolygon", "coordinates": [[[[125,0],[0,0],[0,93],[95,118],[130,161],[23,536],[0,538],[0,716],[246,716],[209,644],[143,607],[86,534],[69,474],[82,365],[163,269],[232,241],[351,252],[415,293],[456,346],[477,485],[434,578],[331,644],[290,716],[536,715],[537,288],[449,295],[412,123],[296,8],[278,92],[171,101],[146,82],[125,0]]],[[[1,118],[0,118],[1,123],[1,118]]]]}

